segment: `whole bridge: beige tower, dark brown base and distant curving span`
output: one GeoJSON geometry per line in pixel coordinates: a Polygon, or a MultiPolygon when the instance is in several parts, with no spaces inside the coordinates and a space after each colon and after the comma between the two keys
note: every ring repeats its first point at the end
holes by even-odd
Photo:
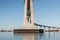
{"type": "Polygon", "coordinates": [[[58,28],[60,27],[52,27],[52,26],[46,26],[46,25],[40,25],[37,23],[34,23],[34,14],[33,14],[33,1],[32,0],[24,0],[24,23],[22,29],[14,29],[14,32],[44,32],[44,29],[37,28],[44,27],[45,28],[58,28]],[[36,27],[35,27],[36,26],[36,27]]]}

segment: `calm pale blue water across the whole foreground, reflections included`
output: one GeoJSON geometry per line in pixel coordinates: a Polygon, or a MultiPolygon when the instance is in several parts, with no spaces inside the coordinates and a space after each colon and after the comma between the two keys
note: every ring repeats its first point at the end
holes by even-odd
{"type": "Polygon", "coordinates": [[[0,40],[60,40],[60,32],[46,32],[44,34],[0,32],[0,40]]]}

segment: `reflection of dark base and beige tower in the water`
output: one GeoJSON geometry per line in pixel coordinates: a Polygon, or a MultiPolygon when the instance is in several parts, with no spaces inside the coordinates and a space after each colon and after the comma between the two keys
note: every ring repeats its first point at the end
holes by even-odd
{"type": "Polygon", "coordinates": [[[43,33],[14,33],[15,40],[43,40],[43,33]]]}

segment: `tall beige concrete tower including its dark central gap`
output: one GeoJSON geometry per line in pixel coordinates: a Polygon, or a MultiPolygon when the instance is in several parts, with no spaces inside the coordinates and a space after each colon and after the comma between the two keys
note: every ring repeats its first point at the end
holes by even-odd
{"type": "Polygon", "coordinates": [[[24,0],[24,29],[34,29],[33,1],[24,0]]]}

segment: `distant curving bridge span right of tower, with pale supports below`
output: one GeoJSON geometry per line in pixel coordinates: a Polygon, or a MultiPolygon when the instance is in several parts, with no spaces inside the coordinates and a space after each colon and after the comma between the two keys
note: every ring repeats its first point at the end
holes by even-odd
{"type": "Polygon", "coordinates": [[[34,25],[37,27],[39,27],[39,29],[41,29],[43,27],[43,29],[46,31],[48,29],[48,31],[60,31],[60,27],[53,27],[53,26],[46,26],[46,25],[40,25],[37,23],[34,23],[34,25]],[[47,29],[46,29],[47,28],[47,29]]]}

